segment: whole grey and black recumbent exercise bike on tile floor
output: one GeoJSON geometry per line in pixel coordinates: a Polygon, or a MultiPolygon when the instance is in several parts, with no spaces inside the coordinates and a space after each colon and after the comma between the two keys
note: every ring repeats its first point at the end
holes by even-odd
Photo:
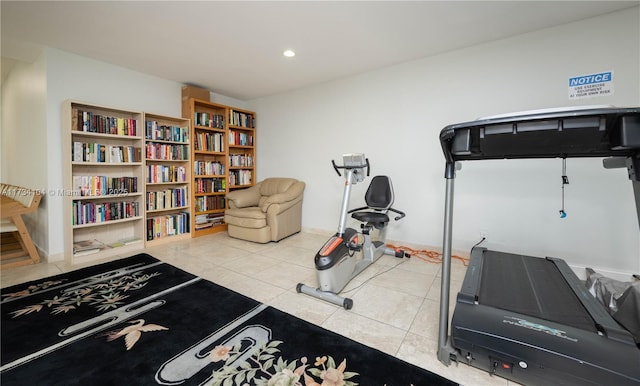
{"type": "Polygon", "coordinates": [[[389,212],[397,214],[394,221],[403,218],[405,213],[391,207],[394,192],[391,179],[387,176],[372,178],[365,194],[367,206],[349,210],[351,187],[369,176],[369,160],[364,154],[345,154],[342,166],[336,165],[333,160],[331,163],[338,176],[342,177],[340,170],[344,170],[346,179],[338,232],[327,240],[316,254],[314,262],[318,287],[298,283],[296,291],[349,310],[353,307],[353,300],[338,294],[351,279],[383,255],[409,257],[409,254],[403,250],[389,248],[385,243],[386,229],[390,221],[389,212]],[[360,232],[347,228],[349,214],[361,222],[360,232]],[[378,237],[375,240],[371,235],[374,229],[378,230],[378,237]]]}

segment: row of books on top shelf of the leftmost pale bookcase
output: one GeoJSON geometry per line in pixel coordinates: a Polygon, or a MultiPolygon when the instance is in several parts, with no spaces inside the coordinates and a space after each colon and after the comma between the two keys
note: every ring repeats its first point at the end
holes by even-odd
{"type": "Polygon", "coordinates": [[[138,135],[137,121],[135,118],[110,117],[90,111],[73,110],[71,114],[71,127],[75,131],[130,137],[138,135]]]}

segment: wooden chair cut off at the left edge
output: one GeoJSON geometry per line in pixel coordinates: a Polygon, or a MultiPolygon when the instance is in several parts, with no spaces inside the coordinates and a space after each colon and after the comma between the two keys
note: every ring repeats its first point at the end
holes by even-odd
{"type": "Polygon", "coordinates": [[[35,212],[42,195],[36,190],[9,184],[0,184],[0,195],[0,269],[38,263],[40,255],[22,220],[22,215],[35,212]]]}

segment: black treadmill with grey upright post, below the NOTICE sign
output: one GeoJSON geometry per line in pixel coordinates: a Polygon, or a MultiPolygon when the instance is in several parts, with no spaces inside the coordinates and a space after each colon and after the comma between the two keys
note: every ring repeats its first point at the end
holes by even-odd
{"type": "Polygon", "coordinates": [[[602,157],[605,168],[627,168],[640,222],[640,108],[480,119],[445,127],[440,142],[446,198],[438,359],[525,385],[640,385],[640,339],[619,325],[559,258],[472,248],[451,335],[448,322],[459,161],[602,157]]]}

